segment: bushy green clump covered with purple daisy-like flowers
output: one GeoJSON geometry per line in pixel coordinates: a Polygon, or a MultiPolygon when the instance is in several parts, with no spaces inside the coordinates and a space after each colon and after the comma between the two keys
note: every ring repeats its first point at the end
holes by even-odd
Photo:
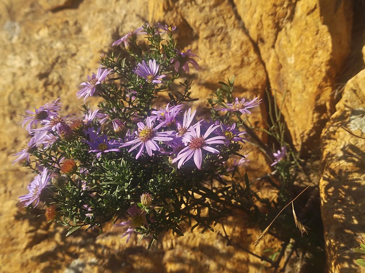
{"type": "Polygon", "coordinates": [[[247,140],[240,115],[261,100],[227,93],[226,103],[210,100],[210,119],[197,119],[191,82],[172,91],[189,64],[199,68],[196,54],[177,48],[175,29],[146,24],[113,43],[125,57],[102,56],[76,93],[84,102],[98,96],[96,109],[84,104],[83,115],[61,116],[58,98],[27,111],[30,141],[15,161],[36,176],[20,197],[24,206],[44,210],[68,234],[101,233],[114,221],[122,237],[139,234],[150,245],[168,230],[182,236],[182,222],[204,232],[235,208],[257,211],[249,183],[226,177],[248,162],[239,153],[247,140]],[[160,95],[168,100],[162,107],[160,95]]]}

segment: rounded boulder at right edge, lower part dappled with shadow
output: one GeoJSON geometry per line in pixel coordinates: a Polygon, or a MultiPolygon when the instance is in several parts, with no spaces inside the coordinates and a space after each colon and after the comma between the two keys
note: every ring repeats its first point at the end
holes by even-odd
{"type": "Polygon", "coordinates": [[[320,196],[327,265],[331,273],[365,272],[354,264],[361,255],[351,250],[358,246],[354,236],[364,233],[365,226],[364,101],[365,70],[362,70],[347,82],[342,99],[336,105],[337,111],[321,137],[326,168],[320,181],[320,196]]]}

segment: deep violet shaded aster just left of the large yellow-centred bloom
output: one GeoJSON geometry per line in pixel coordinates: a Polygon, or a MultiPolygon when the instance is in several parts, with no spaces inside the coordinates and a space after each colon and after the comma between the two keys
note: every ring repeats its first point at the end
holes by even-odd
{"type": "Polygon", "coordinates": [[[108,152],[120,152],[118,146],[120,143],[115,140],[109,140],[107,135],[99,135],[100,128],[95,132],[92,128],[88,128],[87,134],[89,135],[90,141],[83,140],[87,143],[91,150],[89,153],[96,153],[96,158],[100,158],[102,153],[108,152]]]}

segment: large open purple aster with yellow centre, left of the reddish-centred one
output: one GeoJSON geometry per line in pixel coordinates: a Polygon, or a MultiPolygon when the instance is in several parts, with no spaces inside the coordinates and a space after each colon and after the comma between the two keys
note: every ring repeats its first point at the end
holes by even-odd
{"type": "Polygon", "coordinates": [[[160,151],[160,147],[157,144],[158,141],[173,140],[171,134],[173,134],[174,131],[157,132],[157,130],[160,129],[165,124],[166,122],[162,122],[158,124],[156,127],[154,127],[154,122],[151,117],[148,117],[146,119],[146,125],[143,124],[142,122],[138,122],[137,123],[138,131],[134,132],[135,134],[134,139],[132,141],[128,141],[122,144],[120,147],[127,147],[133,145],[131,149],[128,150],[128,152],[139,147],[136,159],[140,157],[145,147],[149,156],[152,156],[152,151],[160,151]]]}

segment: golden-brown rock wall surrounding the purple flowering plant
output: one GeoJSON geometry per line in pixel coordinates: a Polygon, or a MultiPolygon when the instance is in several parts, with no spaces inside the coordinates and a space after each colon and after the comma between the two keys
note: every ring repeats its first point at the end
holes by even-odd
{"type": "MultiPolygon", "coordinates": [[[[218,81],[235,75],[237,96],[262,98],[268,88],[281,105],[286,92],[284,119],[295,148],[304,156],[318,150],[319,135],[335,110],[322,132],[323,162],[339,157],[341,163],[364,150],[362,139],[334,121],[362,133],[362,120],[356,117],[364,103],[365,72],[350,80],[336,109],[331,94],[352,50],[353,1],[5,0],[0,11],[1,272],[239,273],[262,267],[259,259],[226,246],[216,234],[219,229],[203,235],[187,231],[184,237],[166,234],[147,251],[145,242],[133,239],[126,244],[119,238],[121,231],[110,225],[99,237],[80,231],[65,238],[63,227],[17,207],[31,179],[24,168],[11,165],[11,155],[27,137],[18,125],[19,114],[57,97],[66,105],[65,112],[77,112],[78,84],[96,70],[99,56],[147,21],[176,24],[178,46],[192,48],[202,58],[201,69],[191,73],[193,96],[201,99],[195,106],[205,107],[218,81]]],[[[264,105],[261,114],[266,116],[264,105]]],[[[250,121],[264,126],[259,112],[250,121]]],[[[255,158],[247,167],[250,177],[270,171],[264,155],[248,145],[245,149],[255,158]]],[[[349,249],[356,246],[354,233],[365,229],[357,206],[364,183],[362,157],[320,182],[329,272],[361,272],[349,249]]],[[[260,234],[238,219],[227,219],[227,232],[250,249],[260,234]]],[[[279,246],[268,237],[255,251],[279,246]]]]}

